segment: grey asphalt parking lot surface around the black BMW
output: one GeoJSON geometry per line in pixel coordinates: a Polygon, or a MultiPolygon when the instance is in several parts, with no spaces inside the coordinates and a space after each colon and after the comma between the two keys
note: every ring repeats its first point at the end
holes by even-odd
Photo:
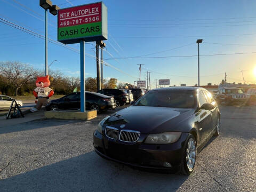
{"type": "Polygon", "coordinates": [[[256,191],[256,106],[220,106],[221,133],[189,177],[150,173],[93,151],[91,121],[0,125],[0,191],[256,191]]]}

